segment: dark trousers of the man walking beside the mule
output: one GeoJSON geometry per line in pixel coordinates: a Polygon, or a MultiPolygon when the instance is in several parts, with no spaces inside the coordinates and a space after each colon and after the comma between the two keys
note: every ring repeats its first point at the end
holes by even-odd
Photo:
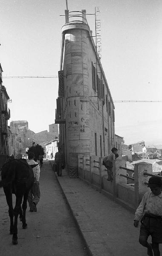
{"type": "Polygon", "coordinates": [[[39,182],[35,181],[28,195],[28,203],[29,203],[30,209],[32,209],[32,203],[35,203],[37,205],[39,200],[40,200],[39,182]]]}

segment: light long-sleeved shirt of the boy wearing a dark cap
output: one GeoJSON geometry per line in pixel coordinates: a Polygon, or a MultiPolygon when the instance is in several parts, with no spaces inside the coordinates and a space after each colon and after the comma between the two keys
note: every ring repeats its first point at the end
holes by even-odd
{"type": "Polygon", "coordinates": [[[146,192],[136,209],[134,220],[139,221],[145,213],[162,216],[162,192],[159,195],[146,192]]]}

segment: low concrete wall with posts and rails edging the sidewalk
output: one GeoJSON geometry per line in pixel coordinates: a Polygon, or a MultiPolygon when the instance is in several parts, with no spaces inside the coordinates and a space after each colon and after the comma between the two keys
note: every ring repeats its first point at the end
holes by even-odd
{"type": "Polygon", "coordinates": [[[126,160],[117,159],[113,163],[113,181],[108,181],[103,159],[104,157],[79,154],[79,178],[134,211],[144,193],[149,190],[147,184],[153,175],[152,164],[137,163],[134,170],[131,170],[126,168],[126,160]],[[133,177],[127,176],[128,171],[134,172],[133,177]],[[130,183],[127,184],[127,180],[130,183]]]}

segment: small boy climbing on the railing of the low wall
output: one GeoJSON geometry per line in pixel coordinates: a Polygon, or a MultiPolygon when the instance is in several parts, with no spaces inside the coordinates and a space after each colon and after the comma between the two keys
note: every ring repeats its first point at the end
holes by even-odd
{"type": "Polygon", "coordinates": [[[117,154],[117,148],[112,148],[111,151],[112,153],[109,154],[107,157],[104,157],[103,160],[103,165],[107,168],[107,180],[109,181],[113,181],[113,160],[116,160],[116,158],[119,157],[119,155],[117,154]]]}

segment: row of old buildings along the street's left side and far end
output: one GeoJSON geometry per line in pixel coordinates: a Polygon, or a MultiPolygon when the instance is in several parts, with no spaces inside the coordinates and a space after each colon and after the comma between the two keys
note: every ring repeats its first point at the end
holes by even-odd
{"type": "MultiPolygon", "coordinates": [[[[26,149],[32,146],[32,143],[40,144],[46,151],[46,144],[53,141],[58,142],[58,125],[49,125],[49,131],[35,133],[28,127],[26,120],[11,121],[10,109],[7,103],[10,101],[6,87],[2,85],[2,67],[0,64],[0,168],[9,155],[26,154],[26,149]]],[[[56,148],[52,147],[50,154],[55,154],[56,148]]],[[[48,152],[47,152],[48,154],[48,152]]]]}

